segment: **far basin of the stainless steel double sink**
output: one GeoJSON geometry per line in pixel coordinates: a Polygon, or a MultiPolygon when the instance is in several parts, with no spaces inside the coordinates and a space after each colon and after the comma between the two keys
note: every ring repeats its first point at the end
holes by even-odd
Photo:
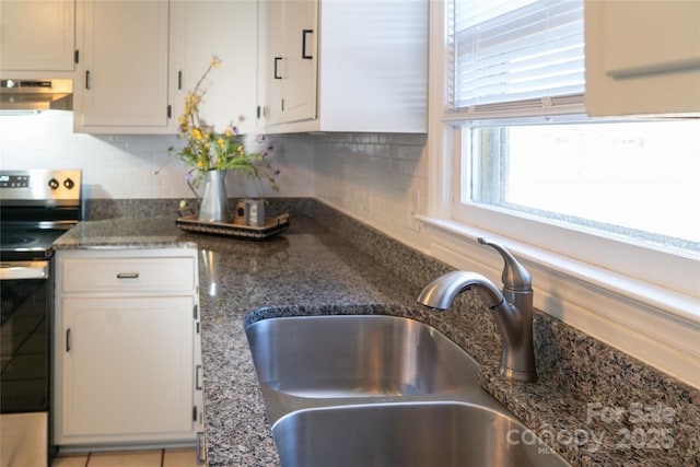
{"type": "Polygon", "coordinates": [[[271,318],[248,326],[246,335],[260,383],[293,396],[416,396],[478,387],[477,363],[413,319],[271,318]]]}

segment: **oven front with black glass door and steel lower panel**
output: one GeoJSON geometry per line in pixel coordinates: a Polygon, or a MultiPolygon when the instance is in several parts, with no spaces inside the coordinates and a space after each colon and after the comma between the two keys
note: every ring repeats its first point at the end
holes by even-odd
{"type": "Polygon", "coordinates": [[[48,261],[2,262],[0,304],[0,466],[46,466],[50,395],[48,261]]]}

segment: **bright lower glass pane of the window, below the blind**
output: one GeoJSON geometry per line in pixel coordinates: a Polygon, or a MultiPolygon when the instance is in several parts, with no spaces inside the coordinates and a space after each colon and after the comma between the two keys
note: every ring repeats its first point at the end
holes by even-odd
{"type": "Polygon", "coordinates": [[[696,121],[466,126],[460,203],[700,253],[696,121]]]}

